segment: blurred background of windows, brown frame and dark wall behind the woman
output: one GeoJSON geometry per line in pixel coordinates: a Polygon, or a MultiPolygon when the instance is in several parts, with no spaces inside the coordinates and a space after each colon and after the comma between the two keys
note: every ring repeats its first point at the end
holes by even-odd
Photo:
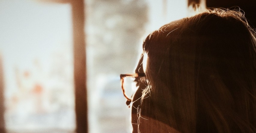
{"type": "Polygon", "coordinates": [[[239,6],[255,25],[253,0],[0,0],[0,132],[131,132],[119,75],[199,3],[239,6]]]}

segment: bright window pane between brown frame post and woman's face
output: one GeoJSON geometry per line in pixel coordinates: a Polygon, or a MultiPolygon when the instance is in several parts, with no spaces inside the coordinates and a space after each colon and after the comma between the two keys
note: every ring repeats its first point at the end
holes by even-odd
{"type": "Polygon", "coordinates": [[[187,1],[91,0],[86,11],[89,131],[129,133],[119,75],[135,71],[147,34],[186,17],[187,1]]]}

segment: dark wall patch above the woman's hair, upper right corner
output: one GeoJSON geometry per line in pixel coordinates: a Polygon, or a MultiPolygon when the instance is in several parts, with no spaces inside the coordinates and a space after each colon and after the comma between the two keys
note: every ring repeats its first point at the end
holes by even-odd
{"type": "Polygon", "coordinates": [[[245,12],[245,17],[252,27],[256,27],[256,0],[206,0],[208,7],[230,8],[240,7],[245,12]]]}

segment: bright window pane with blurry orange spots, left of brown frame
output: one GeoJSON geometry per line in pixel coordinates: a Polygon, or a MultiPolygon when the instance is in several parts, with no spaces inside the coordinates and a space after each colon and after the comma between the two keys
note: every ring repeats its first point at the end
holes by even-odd
{"type": "Polygon", "coordinates": [[[74,132],[70,4],[1,1],[7,132],[74,132]]]}

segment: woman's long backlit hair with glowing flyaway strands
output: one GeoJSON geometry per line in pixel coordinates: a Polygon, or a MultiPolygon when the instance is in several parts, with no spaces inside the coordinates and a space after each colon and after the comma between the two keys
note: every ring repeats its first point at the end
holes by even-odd
{"type": "Polygon", "coordinates": [[[243,13],[221,9],[148,35],[138,132],[256,132],[255,45],[243,13]]]}

